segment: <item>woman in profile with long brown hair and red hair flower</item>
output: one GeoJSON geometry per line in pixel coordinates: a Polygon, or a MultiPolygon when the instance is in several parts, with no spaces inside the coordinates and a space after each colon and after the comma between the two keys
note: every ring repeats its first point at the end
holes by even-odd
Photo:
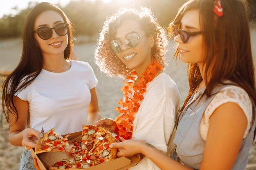
{"type": "Polygon", "coordinates": [[[189,94],[171,158],[145,141],[110,147],[143,153],[163,170],[244,170],[255,139],[256,89],[245,0],[189,0],[169,26],[188,63],[189,94]],[[177,162],[178,161],[178,162],[177,162]]]}

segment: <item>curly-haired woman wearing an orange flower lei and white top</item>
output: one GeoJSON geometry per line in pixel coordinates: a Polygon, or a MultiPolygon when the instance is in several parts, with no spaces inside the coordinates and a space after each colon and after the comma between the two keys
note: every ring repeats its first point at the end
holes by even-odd
{"type": "MultiPolygon", "coordinates": [[[[121,9],[108,17],[95,52],[96,63],[108,76],[126,76],[124,99],[116,120],[104,118],[95,125],[105,126],[117,139],[144,139],[170,154],[169,144],[180,95],[175,82],[163,72],[167,39],[147,8],[121,9]]],[[[144,158],[130,169],[159,169],[144,158]]]]}

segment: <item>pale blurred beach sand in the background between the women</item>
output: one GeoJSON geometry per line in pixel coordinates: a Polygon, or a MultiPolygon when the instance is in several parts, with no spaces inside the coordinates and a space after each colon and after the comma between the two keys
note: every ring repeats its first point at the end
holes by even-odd
{"type": "MultiPolygon", "coordinates": [[[[256,31],[252,29],[252,44],[254,49],[254,57],[256,57],[256,31]]],[[[168,45],[168,52],[166,54],[165,72],[176,82],[180,91],[181,103],[189,89],[186,64],[179,60],[175,62],[172,60],[174,48],[173,40],[168,45]]],[[[78,60],[88,62],[97,76],[99,81],[97,85],[97,94],[99,100],[99,107],[102,118],[109,117],[115,119],[117,112],[117,101],[122,98],[120,89],[123,85],[122,78],[110,78],[102,73],[94,63],[94,49],[96,43],[79,44],[76,43],[74,51],[78,60]]],[[[0,70],[13,70],[18,64],[22,50],[22,42],[20,39],[12,39],[0,41],[0,70]]],[[[20,155],[23,148],[12,146],[8,142],[9,126],[3,120],[4,126],[0,129],[0,170],[18,170],[20,164],[20,155]]],[[[250,150],[249,161],[246,170],[256,170],[256,150],[255,146],[250,150]]]]}

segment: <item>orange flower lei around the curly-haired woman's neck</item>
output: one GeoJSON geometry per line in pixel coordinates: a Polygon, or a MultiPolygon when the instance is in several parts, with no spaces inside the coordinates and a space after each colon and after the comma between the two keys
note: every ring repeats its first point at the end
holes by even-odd
{"type": "Polygon", "coordinates": [[[154,60],[146,68],[143,77],[138,77],[139,83],[137,85],[134,85],[135,79],[137,78],[135,71],[131,72],[132,76],[126,77],[127,80],[131,80],[130,82],[123,80],[124,86],[121,91],[124,91],[125,100],[120,99],[117,103],[121,105],[121,107],[115,108],[116,111],[119,112],[115,126],[115,130],[118,132],[118,136],[116,137],[118,140],[120,140],[120,136],[124,137],[124,139],[132,138],[134,115],[138,112],[140,107],[138,102],[144,99],[143,94],[146,92],[146,84],[155,78],[157,70],[162,70],[162,65],[154,60]],[[129,98],[129,94],[132,94],[132,89],[134,90],[134,94],[132,98],[129,98]]]}

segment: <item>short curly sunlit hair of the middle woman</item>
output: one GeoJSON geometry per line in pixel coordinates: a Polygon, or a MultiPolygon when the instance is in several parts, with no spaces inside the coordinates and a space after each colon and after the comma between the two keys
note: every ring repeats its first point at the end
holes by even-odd
{"type": "Polygon", "coordinates": [[[165,47],[168,43],[166,32],[162,28],[150,9],[140,7],[139,9],[121,8],[114,15],[108,16],[101,30],[98,46],[95,50],[94,59],[100,70],[110,77],[129,76],[133,71],[120,61],[116,54],[112,52],[110,41],[115,37],[117,28],[124,20],[135,20],[140,28],[147,34],[152,35],[155,44],[152,47],[152,56],[164,68],[165,47]]]}

